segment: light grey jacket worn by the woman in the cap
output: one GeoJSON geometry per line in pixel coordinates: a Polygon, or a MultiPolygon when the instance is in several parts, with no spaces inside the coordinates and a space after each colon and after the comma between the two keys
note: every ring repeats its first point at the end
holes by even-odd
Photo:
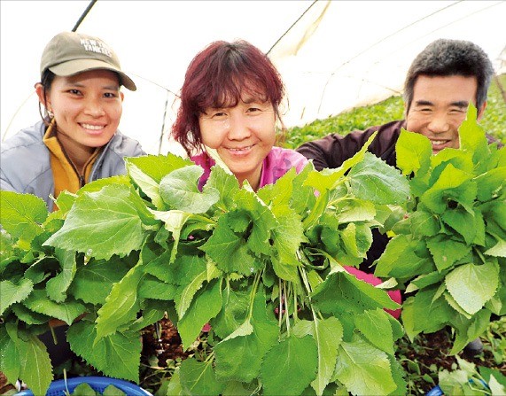
{"type": "MultiPolygon", "coordinates": [[[[10,190],[34,194],[43,198],[52,211],[54,178],[51,170],[50,151],[43,144],[46,126],[43,121],[20,130],[16,135],[2,143],[0,155],[0,190],[10,190]]],[[[116,131],[111,141],[105,145],[93,164],[90,174],[92,182],[114,175],[125,175],[124,157],[138,157],[145,152],[134,139],[116,131]]]]}

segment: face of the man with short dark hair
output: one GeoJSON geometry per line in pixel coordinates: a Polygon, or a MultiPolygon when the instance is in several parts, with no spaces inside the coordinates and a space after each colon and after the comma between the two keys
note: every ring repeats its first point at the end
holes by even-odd
{"type": "MultiPolygon", "coordinates": [[[[418,76],[406,129],[427,136],[434,154],[447,147],[458,149],[458,128],[465,120],[468,105],[476,105],[477,88],[474,76],[418,76]]],[[[484,110],[485,104],[478,109],[478,118],[484,110]]]]}

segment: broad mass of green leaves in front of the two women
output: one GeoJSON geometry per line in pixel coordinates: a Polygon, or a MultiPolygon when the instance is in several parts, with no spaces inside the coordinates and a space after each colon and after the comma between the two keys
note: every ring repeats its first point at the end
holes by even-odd
{"type": "Polygon", "coordinates": [[[384,311],[399,306],[343,267],[409,197],[366,148],[257,192],[222,167],[199,191],[201,168],[170,154],[128,159],[128,176],[60,195],[55,214],[2,191],[0,369],[43,393],[35,335],[55,317],[85,361],[138,382],[139,331],[168,312],[184,348],[209,323],[212,352],[183,361],[167,394],[403,393],[403,331],[384,311]]]}

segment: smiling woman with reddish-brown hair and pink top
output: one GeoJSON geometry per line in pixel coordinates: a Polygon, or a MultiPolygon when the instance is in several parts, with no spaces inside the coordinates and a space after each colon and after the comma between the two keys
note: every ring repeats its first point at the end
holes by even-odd
{"type": "Polygon", "coordinates": [[[214,42],[191,61],[181,89],[181,105],[172,128],[175,140],[204,168],[202,187],[217,151],[237,177],[253,190],[276,182],[307,159],[276,147],[276,121],[284,97],[281,76],[253,44],[214,42]]]}

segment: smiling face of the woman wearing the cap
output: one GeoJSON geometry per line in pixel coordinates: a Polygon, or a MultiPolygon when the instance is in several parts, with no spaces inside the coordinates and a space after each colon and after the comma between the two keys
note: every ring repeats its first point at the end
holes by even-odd
{"type": "MultiPolygon", "coordinates": [[[[41,97],[43,89],[37,88],[37,93],[41,97]]],[[[45,100],[58,138],[70,151],[93,151],[107,144],[120,124],[123,93],[118,75],[109,70],[55,76],[45,100]]]]}

